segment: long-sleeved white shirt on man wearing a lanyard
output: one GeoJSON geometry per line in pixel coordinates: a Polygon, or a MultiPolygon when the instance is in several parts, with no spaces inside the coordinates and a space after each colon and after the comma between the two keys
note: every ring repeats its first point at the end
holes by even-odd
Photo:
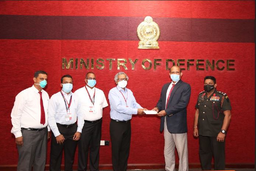
{"type": "Polygon", "coordinates": [[[80,114],[77,112],[78,109],[78,100],[74,93],[70,92],[69,94],[63,92],[62,94],[66,98],[66,105],[68,107],[68,103],[70,102],[70,97],[72,96],[72,101],[70,104],[69,110],[66,110],[66,105],[64,102],[64,99],[62,97],[62,94],[60,92],[52,95],[52,97],[49,100],[49,107],[48,107],[48,123],[50,128],[52,129],[52,132],[54,136],[59,136],[60,132],[57,127],[56,123],[62,124],[62,125],[70,125],[74,124],[77,121],[77,132],[82,132],[83,126],[84,126],[84,119],[83,114],[80,114]],[[65,116],[67,117],[67,114],[71,114],[71,120],[66,121],[65,116]]]}

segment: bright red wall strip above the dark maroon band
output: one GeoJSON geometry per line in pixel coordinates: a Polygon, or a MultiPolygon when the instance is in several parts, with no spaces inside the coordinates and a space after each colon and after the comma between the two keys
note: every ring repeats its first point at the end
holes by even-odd
{"type": "Polygon", "coordinates": [[[0,1],[2,15],[254,19],[254,1],[0,1]]]}

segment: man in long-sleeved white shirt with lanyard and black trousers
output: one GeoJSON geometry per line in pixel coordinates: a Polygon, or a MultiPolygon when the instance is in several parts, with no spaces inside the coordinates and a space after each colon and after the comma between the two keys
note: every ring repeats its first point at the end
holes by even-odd
{"type": "Polygon", "coordinates": [[[71,92],[72,77],[64,75],[60,81],[62,90],[52,95],[48,107],[48,123],[52,129],[50,171],[61,170],[63,149],[65,171],[72,171],[77,141],[80,139],[84,119],[82,114],[77,113],[79,104],[76,95],[71,92]]]}

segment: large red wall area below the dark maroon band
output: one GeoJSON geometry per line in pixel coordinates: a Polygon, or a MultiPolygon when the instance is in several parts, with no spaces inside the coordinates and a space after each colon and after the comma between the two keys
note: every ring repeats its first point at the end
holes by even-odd
{"type": "MultiPolygon", "coordinates": [[[[49,73],[46,91],[49,95],[60,90],[60,77],[71,74],[74,78],[74,90],[84,86],[84,76],[88,71],[95,72],[97,76],[97,87],[104,90],[105,96],[115,86],[114,75],[119,71],[125,71],[130,80],[130,88],[138,103],[146,108],[153,108],[160,96],[161,86],[169,82],[168,71],[165,70],[165,59],[234,59],[235,71],[196,71],[195,64],[190,70],[183,71],[183,81],[190,83],[192,96],[188,105],[188,146],[189,162],[199,162],[198,140],[192,136],[194,104],[197,94],[203,90],[203,78],[205,75],[214,75],[217,78],[218,90],[226,92],[231,100],[232,121],[227,136],[227,163],[253,162],[254,138],[245,139],[247,135],[254,134],[254,96],[245,92],[254,92],[254,86],[239,84],[239,80],[246,80],[248,85],[254,84],[254,43],[192,43],[192,42],[159,42],[159,50],[139,50],[137,41],[84,41],[84,40],[1,40],[1,51],[3,62],[4,89],[1,99],[4,101],[4,119],[1,124],[6,125],[6,131],[0,145],[3,147],[2,154],[7,154],[1,160],[1,164],[14,164],[17,162],[14,138],[10,133],[10,112],[15,95],[21,90],[32,85],[32,74],[34,70],[43,69],[49,73]],[[60,48],[61,47],[61,48],[60,48]],[[170,48],[171,47],[171,48],[170,48]],[[168,54],[168,55],[166,55],[168,54]],[[11,58],[11,60],[10,60],[11,58]],[[61,69],[62,58],[103,58],[105,68],[98,70],[61,69]],[[122,67],[117,70],[117,61],[113,61],[113,69],[109,70],[106,58],[131,58],[138,59],[135,70],[127,63],[128,70],[122,67]],[[156,70],[144,70],[141,61],[144,58],[154,60],[161,58],[160,66],[156,70]],[[15,65],[14,65],[15,64],[15,65]],[[15,67],[14,67],[15,66],[15,67]],[[246,74],[245,74],[246,71],[246,74]],[[30,80],[30,81],[29,81],[30,80]],[[148,86],[148,82],[151,86],[148,86]],[[245,90],[246,89],[246,90],[245,90]],[[6,98],[8,97],[8,98],[6,98]],[[244,99],[247,99],[246,103],[244,99]],[[247,108],[246,117],[244,108],[247,108]],[[236,125],[246,125],[240,136],[236,136],[236,125]],[[10,143],[6,143],[6,141],[10,143]],[[235,143],[234,143],[235,142],[235,143]],[[239,148],[238,148],[239,147],[239,148]],[[13,152],[9,156],[9,152],[13,152]],[[237,155],[234,155],[236,153],[237,155]],[[243,156],[245,155],[245,156],[243,156]],[[10,160],[13,159],[13,160],[10,160]]],[[[74,91],[73,90],[73,91],[74,91]]],[[[109,107],[104,109],[102,125],[102,139],[110,140],[109,137],[109,107]]],[[[129,163],[164,163],[163,148],[164,138],[159,133],[159,118],[152,116],[134,116],[132,124],[131,151],[129,163]],[[140,155],[138,155],[140,154],[140,155]],[[143,156],[141,158],[141,156],[143,156]],[[154,157],[152,157],[154,156],[154,157]]],[[[49,149],[48,149],[49,150],[49,149]]],[[[101,147],[101,164],[111,163],[110,146],[101,147]]],[[[49,160],[49,153],[48,153],[49,160]]],[[[77,161],[77,160],[76,160],[77,161]]]]}

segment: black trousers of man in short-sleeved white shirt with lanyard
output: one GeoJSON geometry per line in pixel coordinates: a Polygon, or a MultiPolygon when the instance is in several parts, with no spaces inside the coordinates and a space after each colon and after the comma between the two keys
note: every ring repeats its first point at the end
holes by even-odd
{"type": "Polygon", "coordinates": [[[95,123],[85,121],[78,142],[78,171],[86,171],[90,148],[90,171],[99,171],[99,146],[102,119],[95,123]]]}

